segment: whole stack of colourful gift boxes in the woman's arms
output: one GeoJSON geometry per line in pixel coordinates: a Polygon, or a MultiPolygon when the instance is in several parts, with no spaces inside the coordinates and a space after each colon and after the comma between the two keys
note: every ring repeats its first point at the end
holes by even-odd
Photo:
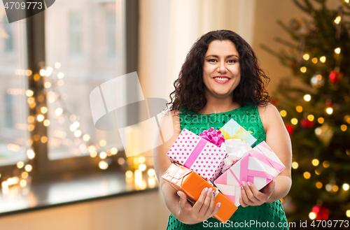
{"type": "Polygon", "coordinates": [[[212,188],[215,204],[221,203],[214,217],[226,222],[239,206],[242,181],[262,189],[285,168],[265,141],[256,141],[233,119],[200,136],[183,129],[167,153],[172,165],[162,178],[193,203],[204,188],[212,188]]]}

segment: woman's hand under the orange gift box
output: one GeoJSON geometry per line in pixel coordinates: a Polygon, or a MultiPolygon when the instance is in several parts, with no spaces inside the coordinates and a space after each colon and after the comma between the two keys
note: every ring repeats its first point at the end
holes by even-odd
{"type": "Polygon", "coordinates": [[[187,201],[187,196],[184,192],[177,192],[180,196],[178,219],[185,224],[197,224],[213,217],[218,213],[221,203],[215,206],[215,196],[212,188],[203,189],[200,198],[194,206],[187,201]]]}

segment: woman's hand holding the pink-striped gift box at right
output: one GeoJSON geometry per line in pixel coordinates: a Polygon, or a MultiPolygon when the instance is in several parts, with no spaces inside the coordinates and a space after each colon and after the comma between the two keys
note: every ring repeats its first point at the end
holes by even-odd
{"type": "Polygon", "coordinates": [[[243,181],[241,184],[241,197],[239,203],[241,203],[241,206],[244,208],[246,206],[260,206],[262,203],[266,203],[272,195],[272,192],[274,192],[276,180],[269,182],[261,189],[261,192],[259,192],[251,182],[243,181]]]}

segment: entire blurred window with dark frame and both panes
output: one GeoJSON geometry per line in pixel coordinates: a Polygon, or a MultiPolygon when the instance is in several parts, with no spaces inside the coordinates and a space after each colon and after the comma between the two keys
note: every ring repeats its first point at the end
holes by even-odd
{"type": "MultiPolygon", "coordinates": [[[[10,45],[8,36],[0,37],[1,180],[18,171],[18,161],[33,166],[35,180],[46,180],[99,171],[101,159],[95,156],[111,148],[119,150],[109,157],[112,162],[123,156],[117,130],[95,129],[89,95],[103,82],[137,71],[137,52],[125,55],[127,45],[137,47],[137,39],[129,44],[125,39],[125,10],[136,6],[134,14],[138,6],[130,2],[62,0],[45,13],[6,25],[16,39],[10,45]],[[6,52],[6,44],[14,52],[6,52]],[[125,59],[132,64],[125,67],[125,59]],[[31,149],[34,159],[27,158],[31,149]]],[[[124,92],[130,86],[120,87],[124,92]]]]}

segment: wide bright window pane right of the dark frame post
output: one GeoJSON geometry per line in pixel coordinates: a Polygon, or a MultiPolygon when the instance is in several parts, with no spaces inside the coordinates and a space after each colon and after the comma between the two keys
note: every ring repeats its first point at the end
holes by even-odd
{"type": "Polygon", "coordinates": [[[116,132],[94,128],[89,97],[92,89],[122,75],[125,69],[109,60],[123,47],[116,38],[117,24],[122,23],[116,22],[116,4],[84,1],[84,7],[76,11],[66,1],[64,8],[52,8],[45,15],[46,64],[52,68],[50,77],[45,78],[50,86],[45,89],[49,160],[90,157],[111,148],[123,150],[116,132]],[[57,20],[60,15],[68,16],[57,20]],[[71,62],[71,57],[78,55],[83,58],[71,62]]]}

